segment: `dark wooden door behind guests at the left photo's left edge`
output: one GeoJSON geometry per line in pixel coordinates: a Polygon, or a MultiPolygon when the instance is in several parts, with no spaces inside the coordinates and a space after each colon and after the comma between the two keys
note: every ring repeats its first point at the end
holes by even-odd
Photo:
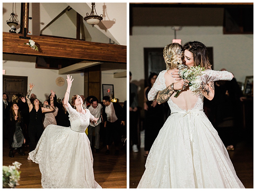
{"type": "Polygon", "coordinates": [[[3,93],[6,93],[9,102],[15,94],[21,94],[23,97],[27,94],[28,77],[27,76],[7,76],[3,75],[3,93]]]}

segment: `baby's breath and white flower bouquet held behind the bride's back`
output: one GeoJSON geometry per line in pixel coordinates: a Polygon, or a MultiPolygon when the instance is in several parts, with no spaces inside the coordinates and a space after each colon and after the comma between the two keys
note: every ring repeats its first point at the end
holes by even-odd
{"type": "MultiPolygon", "coordinates": [[[[203,71],[205,71],[205,69],[201,68],[200,65],[192,66],[188,68],[188,66],[184,64],[179,64],[178,68],[179,68],[178,74],[180,75],[180,77],[188,80],[189,89],[193,92],[194,95],[198,95],[202,90],[202,85],[201,85],[202,81],[199,78],[199,76],[204,74],[203,71]]],[[[180,91],[181,90],[177,90],[174,97],[178,97],[180,91]]]]}

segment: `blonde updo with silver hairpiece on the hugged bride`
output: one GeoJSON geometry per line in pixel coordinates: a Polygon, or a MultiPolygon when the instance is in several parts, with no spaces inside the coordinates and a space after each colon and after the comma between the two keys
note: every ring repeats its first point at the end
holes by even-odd
{"type": "Polygon", "coordinates": [[[171,70],[178,67],[178,64],[182,64],[182,57],[184,55],[183,47],[179,43],[171,43],[164,47],[164,61],[166,64],[166,70],[171,70]],[[177,50],[182,50],[182,55],[177,54],[177,50]],[[170,57],[168,57],[170,55],[170,57]]]}

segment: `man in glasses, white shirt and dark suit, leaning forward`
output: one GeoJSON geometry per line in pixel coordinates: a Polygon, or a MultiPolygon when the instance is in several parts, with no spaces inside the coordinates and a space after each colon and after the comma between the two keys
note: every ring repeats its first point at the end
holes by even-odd
{"type": "Polygon", "coordinates": [[[102,118],[104,127],[106,128],[106,154],[110,153],[109,145],[114,144],[116,147],[115,155],[119,155],[119,142],[121,141],[120,130],[122,121],[122,106],[119,103],[110,102],[109,96],[104,96],[103,99],[102,118]]]}

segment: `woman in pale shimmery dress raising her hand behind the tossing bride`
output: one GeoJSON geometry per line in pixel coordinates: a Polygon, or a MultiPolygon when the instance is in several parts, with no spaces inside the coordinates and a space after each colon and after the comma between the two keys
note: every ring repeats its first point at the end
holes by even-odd
{"type": "Polygon", "coordinates": [[[54,108],[54,110],[45,113],[45,118],[43,122],[44,129],[50,124],[57,125],[55,117],[58,114],[58,110],[60,106],[60,104],[57,102],[57,96],[55,95],[55,92],[53,90],[51,90],[51,94],[49,95],[46,101],[48,102],[48,104],[46,105],[44,103],[44,107],[49,108],[51,106],[54,108]]]}

